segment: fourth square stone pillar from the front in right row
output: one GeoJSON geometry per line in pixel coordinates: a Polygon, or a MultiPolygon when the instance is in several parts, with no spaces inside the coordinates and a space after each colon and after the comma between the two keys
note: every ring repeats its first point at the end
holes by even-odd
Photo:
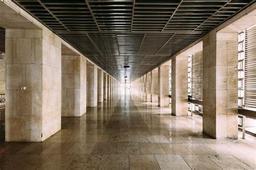
{"type": "Polygon", "coordinates": [[[151,102],[158,101],[158,70],[151,71],[151,102]]]}

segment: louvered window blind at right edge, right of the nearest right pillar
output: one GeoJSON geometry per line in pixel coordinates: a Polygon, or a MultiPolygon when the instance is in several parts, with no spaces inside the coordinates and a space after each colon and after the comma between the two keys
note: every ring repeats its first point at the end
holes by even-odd
{"type": "Polygon", "coordinates": [[[245,107],[256,108],[256,26],[245,31],[245,107]]]}

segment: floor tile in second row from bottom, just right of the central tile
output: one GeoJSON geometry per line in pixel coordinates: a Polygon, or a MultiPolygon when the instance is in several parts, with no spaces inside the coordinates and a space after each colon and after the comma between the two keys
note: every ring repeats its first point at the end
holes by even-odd
{"type": "Polygon", "coordinates": [[[142,154],[166,154],[160,143],[139,143],[142,154]]]}

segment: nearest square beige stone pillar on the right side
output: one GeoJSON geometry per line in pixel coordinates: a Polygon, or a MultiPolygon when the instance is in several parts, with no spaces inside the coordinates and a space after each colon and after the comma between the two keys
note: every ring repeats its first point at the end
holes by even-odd
{"type": "Polygon", "coordinates": [[[238,138],[237,65],[237,32],[204,36],[203,131],[213,138],[238,138]]]}

